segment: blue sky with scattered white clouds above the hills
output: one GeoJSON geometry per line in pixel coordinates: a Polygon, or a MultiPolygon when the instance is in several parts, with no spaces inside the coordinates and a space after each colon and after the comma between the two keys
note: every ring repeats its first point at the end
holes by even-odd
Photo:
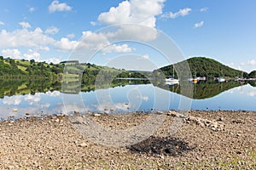
{"type": "Polygon", "coordinates": [[[4,57],[48,63],[81,59],[153,70],[204,56],[239,70],[256,70],[255,0],[0,0],[0,4],[4,57]],[[163,52],[168,47],[171,55],[183,56],[171,62],[163,52]]]}

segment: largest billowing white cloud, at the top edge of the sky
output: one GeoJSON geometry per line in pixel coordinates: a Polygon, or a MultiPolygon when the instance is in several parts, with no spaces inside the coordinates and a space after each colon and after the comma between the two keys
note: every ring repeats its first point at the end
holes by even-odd
{"type": "Polygon", "coordinates": [[[107,25],[141,24],[155,26],[155,16],[162,13],[165,0],[131,0],[119,3],[108,12],[99,15],[98,20],[107,25]]]}

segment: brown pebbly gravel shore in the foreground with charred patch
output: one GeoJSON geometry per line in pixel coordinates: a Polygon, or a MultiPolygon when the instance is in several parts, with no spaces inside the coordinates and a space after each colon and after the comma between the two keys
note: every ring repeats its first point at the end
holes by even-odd
{"type": "Polygon", "coordinates": [[[154,115],[165,117],[160,127],[148,139],[122,147],[84,135],[86,120],[126,130],[140,127],[151,115],[74,114],[0,122],[0,169],[256,169],[256,112],[154,115]],[[177,118],[183,124],[170,134],[177,118]]]}

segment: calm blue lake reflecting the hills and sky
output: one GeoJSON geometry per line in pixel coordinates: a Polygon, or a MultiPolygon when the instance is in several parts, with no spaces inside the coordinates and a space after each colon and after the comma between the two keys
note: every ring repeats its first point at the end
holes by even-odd
{"type": "Polygon", "coordinates": [[[192,98],[180,94],[179,84],[163,88],[146,80],[117,80],[110,88],[99,89],[77,84],[80,90],[63,93],[61,82],[1,81],[0,119],[73,111],[256,111],[256,82],[253,81],[198,82],[192,85],[192,98]]]}

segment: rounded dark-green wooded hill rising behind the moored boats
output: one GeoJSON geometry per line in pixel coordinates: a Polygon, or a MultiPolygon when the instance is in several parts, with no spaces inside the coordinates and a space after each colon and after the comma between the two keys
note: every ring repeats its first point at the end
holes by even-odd
{"type": "MultiPolygon", "coordinates": [[[[248,75],[247,72],[238,71],[227,65],[223,65],[214,59],[208,59],[205,57],[186,59],[185,61],[174,64],[174,68],[177,65],[182,65],[183,62],[188,62],[193,77],[241,77],[242,74],[243,77],[247,77],[248,75]]],[[[173,65],[161,67],[160,70],[156,71],[162,71],[166,77],[172,76],[173,65]]],[[[175,77],[177,77],[176,71],[175,77]]]]}

